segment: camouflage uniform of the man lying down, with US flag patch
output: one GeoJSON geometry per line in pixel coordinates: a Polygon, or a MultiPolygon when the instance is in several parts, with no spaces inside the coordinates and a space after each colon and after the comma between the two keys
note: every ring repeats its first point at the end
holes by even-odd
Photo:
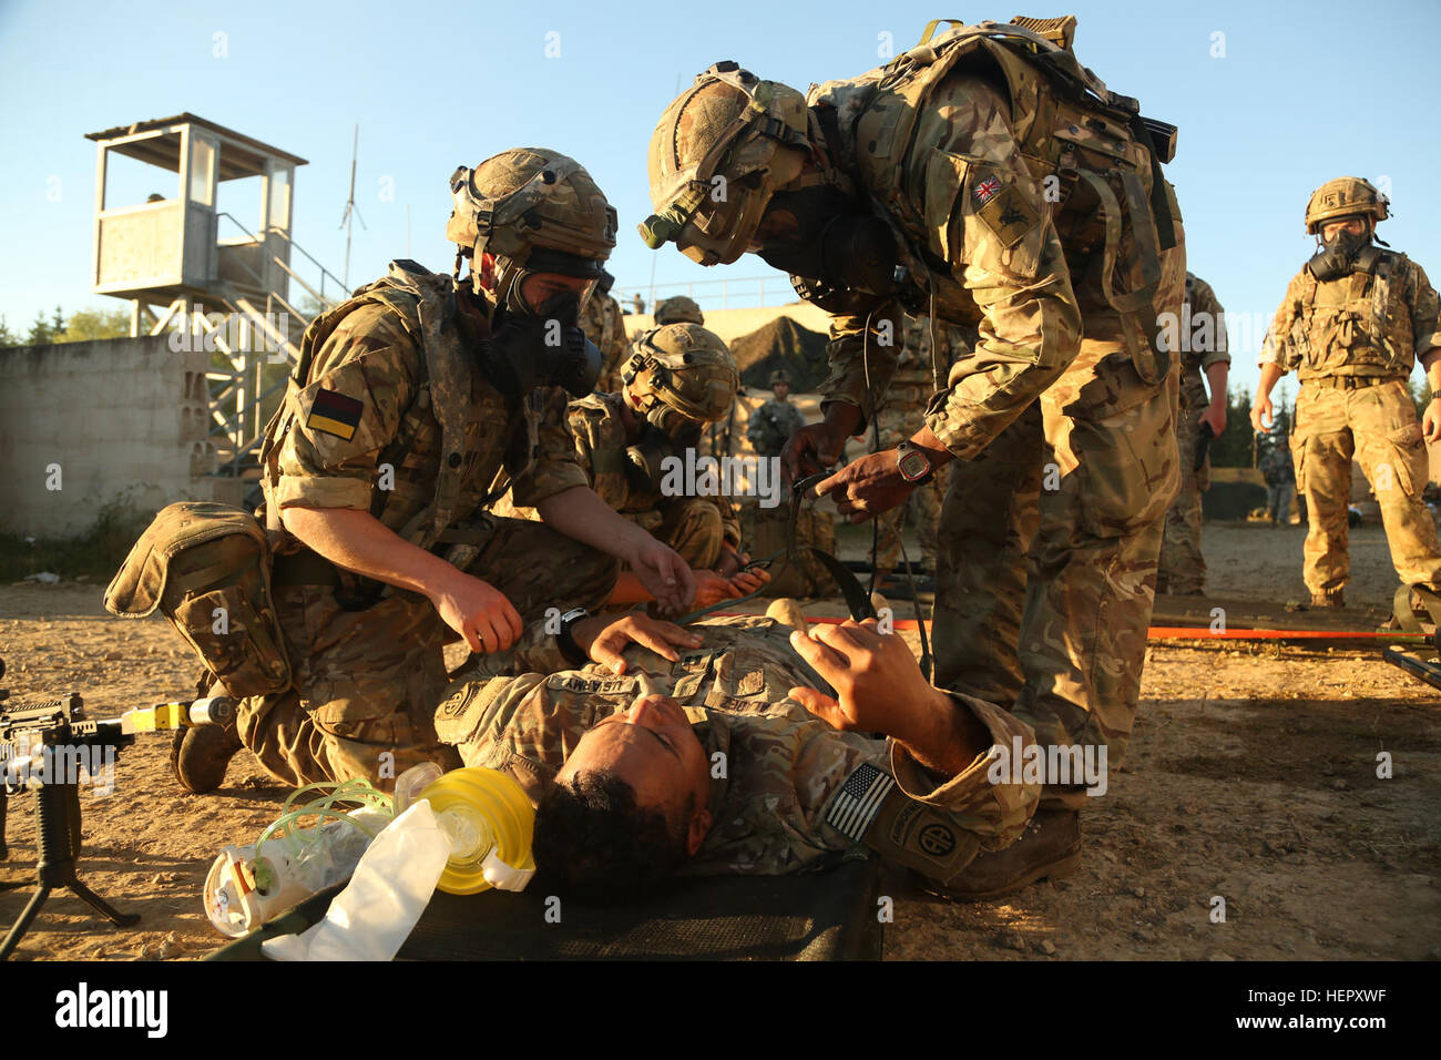
{"type": "MultiPolygon", "coordinates": [[[[710,782],[715,826],[684,868],[692,875],[814,871],[869,847],[947,881],[980,849],[1004,847],[1025,828],[1039,785],[993,785],[986,759],[937,785],[893,741],[839,733],[790,699],[797,685],[830,689],[791,649],[788,627],[748,617],[693,629],[703,645],[676,663],[633,645],[625,658],[637,676],[624,678],[594,663],[572,669],[537,643],[525,658],[537,672],[457,681],[435,711],[437,731],[467,766],[506,770],[539,800],[586,730],[637,695],[674,697],[708,757],[725,756],[726,766],[710,782]],[[833,812],[852,777],[855,786],[878,780],[878,798],[886,789],[873,819],[847,823],[833,812]]],[[[1030,728],[1006,711],[953,699],[997,744],[1030,741],[1030,728]]]]}

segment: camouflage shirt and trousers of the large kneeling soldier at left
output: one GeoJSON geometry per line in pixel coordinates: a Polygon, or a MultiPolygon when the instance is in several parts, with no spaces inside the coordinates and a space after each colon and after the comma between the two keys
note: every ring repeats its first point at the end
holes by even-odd
{"type": "MultiPolygon", "coordinates": [[[[585,486],[585,473],[563,425],[565,391],[537,389],[517,407],[476,369],[468,350],[487,324],[467,299],[448,277],[398,262],[389,280],[307,329],[304,385],[265,444],[265,503],[370,512],[421,548],[457,542],[447,558],[526,622],[546,607],[595,607],[615,584],[614,560],[549,528],[477,512],[497,476],[535,505],[585,486]],[[447,303],[458,310],[452,323],[422,337],[422,322],[445,319],[447,303]],[[378,487],[385,464],[389,490],[378,487]]],[[[444,757],[431,714],[447,682],[448,629],[429,600],[342,573],[281,535],[275,603],[295,679],[242,701],[245,746],[288,785],[385,780],[444,757]]]]}

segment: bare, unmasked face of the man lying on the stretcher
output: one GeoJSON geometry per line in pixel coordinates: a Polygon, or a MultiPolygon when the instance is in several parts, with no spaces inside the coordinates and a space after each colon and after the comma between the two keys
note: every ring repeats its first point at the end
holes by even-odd
{"type": "Polygon", "coordinates": [[[565,760],[556,783],[586,770],[614,773],[635,790],[641,806],[660,809],[676,823],[695,796],[696,813],[705,818],[696,845],[710,826],[705,809],[710,800],[710,761],[690,718],[667,695],[643,695],[628,711],[591,728],[565,760]]]}

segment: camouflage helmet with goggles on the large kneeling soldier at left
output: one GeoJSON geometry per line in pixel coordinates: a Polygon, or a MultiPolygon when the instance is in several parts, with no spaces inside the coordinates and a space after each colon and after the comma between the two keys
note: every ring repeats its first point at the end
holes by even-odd
{"type": "Polygon", "coordinates": [[[533,273],[559,273],[589,280],[584,306],[601,262],[615,247],[615,208],[575,159],[545,147],[517,147],[451,175],[455,208],[445,238],[471,258],[480,284],[481,254],[496,255],[496,299],[514,312],[523,306],[520,286],[533,273]]]}

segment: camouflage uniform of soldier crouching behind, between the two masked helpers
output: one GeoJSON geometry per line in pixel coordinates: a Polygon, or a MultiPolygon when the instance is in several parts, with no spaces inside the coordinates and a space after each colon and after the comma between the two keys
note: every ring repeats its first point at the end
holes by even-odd
{"type": "Polygon", "coordinates": [[[715,570],[722,547],[741,548],[735,506],[725,496],[664,496],[637,474],[638,469],[625,456],[631,443],[623,402],[620,394],[592,394],[572,401],[566,414],[576,460],[589,473],[591,489],[624,518],[676,549],[693,570],[715,570]]]}

